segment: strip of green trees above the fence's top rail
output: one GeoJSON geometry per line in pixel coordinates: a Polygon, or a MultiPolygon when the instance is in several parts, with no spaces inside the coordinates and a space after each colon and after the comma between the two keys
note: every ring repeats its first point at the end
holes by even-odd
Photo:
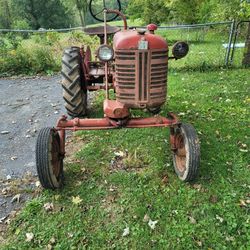
{"type": "MultiPolygon", "coordinates": [[[[0,0],[0,28],[63,28],[95,23],[88,0],[0,0]]],[[[246,19],[246,0],[122,0],[123,12],[142,23],[197,23],[246,19]]],[[[95,4],[101,4],[96,0],[95,4]]],[[[109,1],[114,5],[115,1],[109,1]]]]}

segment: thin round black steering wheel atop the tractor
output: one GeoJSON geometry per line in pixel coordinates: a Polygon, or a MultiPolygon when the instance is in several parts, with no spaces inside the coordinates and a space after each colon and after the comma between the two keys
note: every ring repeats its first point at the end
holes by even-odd
{"type": "MultiPolygon", "coordinates": [[[[89,11],[91,16],[100,22],[104,22],[103,11],[105,9],[119,10],[121,11],[121,2],[120,0],[103,0],[103,3],[100,5],[100,1],[98,0],[90,0],[89,2],[89,11]],[[106,3],[107,2],[107,3],[106,3]]],[[[111,22],[115,20],[119,15],[114,13],[107,13],[107,22],[111,22]]]]}

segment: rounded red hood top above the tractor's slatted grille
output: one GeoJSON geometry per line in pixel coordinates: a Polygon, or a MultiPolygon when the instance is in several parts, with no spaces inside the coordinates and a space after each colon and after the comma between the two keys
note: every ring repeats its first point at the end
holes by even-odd
{"type": "Polygon", "coordinates": [[[160,36],[140,30],[123,30],[114,35],[115,50],[138,49],[140,41],[147,41],[147,49],[168,49],[167,42],[160,36]]]}

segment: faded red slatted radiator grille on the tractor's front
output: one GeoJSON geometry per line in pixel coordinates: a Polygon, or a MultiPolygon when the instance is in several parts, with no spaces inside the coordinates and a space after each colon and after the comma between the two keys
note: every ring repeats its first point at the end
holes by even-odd
{"type": "Polygon", "coordinates": [[[167,50],[115,52],[116,95],[128,107],[162,105],[166,100],[167,50]]]}

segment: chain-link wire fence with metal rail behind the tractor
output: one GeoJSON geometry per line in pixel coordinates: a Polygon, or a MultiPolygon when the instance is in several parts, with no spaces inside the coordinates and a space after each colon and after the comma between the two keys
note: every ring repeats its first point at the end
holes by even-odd
{"type": "MultiPolygon", "coordinates": [[[[176,41],[187,41],[190,51],[187,57],[171,62],[175,70],[207,70],[232,63],[240,66],[247,23],[243,23],[237,34],[233,58],[230,54],[234,42],[235,22],[217,22],[193,25],[159,26],[157,34],[164,37],[171,49],[176,41]]],[[[146,28],[135,26],[130,28],[146,28]]],[[[96,48],[98,39],[84,35],[83,27],[54,30],[10,30],[0,29],[0,76],[5,72],[59,70],[61,53],[65,47],[91,45],[96,48]],[[21,55],[25,53],[25,57],[21,55]],[[33,61],[34,62],[33,62],[33,61]],[[52,67],[52,65],[54,66],[52,67]],[[5,66],[4,66],[5,65],[5,66]]],[[[16,72],[18,73],[18,72],[16,72]]],[[[24,72],[27,73],[27,72],[24,72]]]]}

